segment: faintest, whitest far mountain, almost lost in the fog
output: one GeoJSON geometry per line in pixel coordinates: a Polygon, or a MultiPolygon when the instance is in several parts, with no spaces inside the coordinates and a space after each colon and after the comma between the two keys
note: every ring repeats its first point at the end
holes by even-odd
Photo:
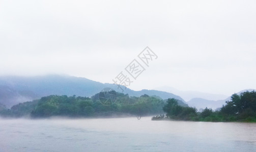
{"type": "Polygon", "coordinates": [[[228,97],[228,96],[222,95],[222,94],[211,94],[211,93],[205,93],[205,92],[199,92],[199,91],[181,91],[181,90],[177,90],[175,88],[167,87],[167,86],[158,87],[155,89],[176,94],[176,95],[182,97],[185,101],[189,101],[193,98],[203,98],[203,99],[207,99],[207,100],[221,100],[221,99],[225,99],[228,97]]]}

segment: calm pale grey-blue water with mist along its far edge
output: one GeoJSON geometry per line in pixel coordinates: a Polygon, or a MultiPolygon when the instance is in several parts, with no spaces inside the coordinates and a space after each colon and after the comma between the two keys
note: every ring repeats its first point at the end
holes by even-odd
{"type": "Polygon", "coordinates": [[[0,151],[256,151],[256,124],[0,119],[0,140],[0,151]]]}

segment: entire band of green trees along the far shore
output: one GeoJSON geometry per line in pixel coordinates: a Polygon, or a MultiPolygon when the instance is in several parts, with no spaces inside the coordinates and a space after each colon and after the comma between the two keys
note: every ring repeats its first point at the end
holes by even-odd
{"type": "Polygon", "coordinates": [[[181,101],[170,98],[142,95],[130,97],[128,94],[117,93],[116,101],[110,105],[102,104],[96,94],[92,98],[76,96],[51,95],[39,100],[19,103],[7,109],[0,104],[2,117],[33,117],[47,118],[64,117],[102,117],[118,115],[146,116],[166,112],[166,115],[154,117],[153,120],[173,119],[186,121],[211,122],[256,122],[256,92],[233,94],[231,101],[226,101],[220,110],[205,108],[198,112],[194,107],[181,104],[181,101]]]}

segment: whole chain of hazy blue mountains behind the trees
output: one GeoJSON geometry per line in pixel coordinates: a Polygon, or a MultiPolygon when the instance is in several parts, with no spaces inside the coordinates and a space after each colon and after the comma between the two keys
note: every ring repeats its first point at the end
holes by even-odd
{"type": "MultiPolygon", "coordinates": [[[[115,84],[103,84],[86,78],[72,77],[69,75],[51,74],[37,77],[1,76],[0,103],[10,108],[18,103],[40,99],[41,97],[49,95],[91,97],[99,93],[103,88],[112,88],[117,92],[121,92],[115,84]]],[[[126,88],[122,93],[135,97],[147,94],[149,96],[155,95],[162,99],[175,98],[197,109],[205,107],[212,109],[220,108],[225,104],[225,101],[231,99],[225,95],[189,91],[182,92],[170,87],[156,89],[157,90],[134,91],[126,88]]],[[[253,91],[253,89],[242,90],[237,92],[237,94],[246,91],[253,91]]]]}

